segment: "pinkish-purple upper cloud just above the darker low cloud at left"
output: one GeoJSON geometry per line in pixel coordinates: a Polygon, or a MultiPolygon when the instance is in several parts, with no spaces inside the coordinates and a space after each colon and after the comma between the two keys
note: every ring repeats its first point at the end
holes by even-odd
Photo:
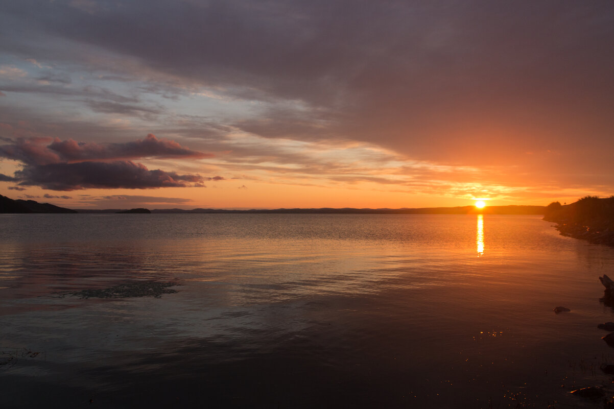
{"type": "Polygon", "coordinates": [[[61,141],[51,138],[21,138],[14,144],[0,145],[0,157],[19,160],[28,165],[122,158],[207,158],[212,156],[184,148],[168,139],[157,139],[153,134],[148,134],[145,139],[122,144],[77,142],[72,139],[61,141]]]}

